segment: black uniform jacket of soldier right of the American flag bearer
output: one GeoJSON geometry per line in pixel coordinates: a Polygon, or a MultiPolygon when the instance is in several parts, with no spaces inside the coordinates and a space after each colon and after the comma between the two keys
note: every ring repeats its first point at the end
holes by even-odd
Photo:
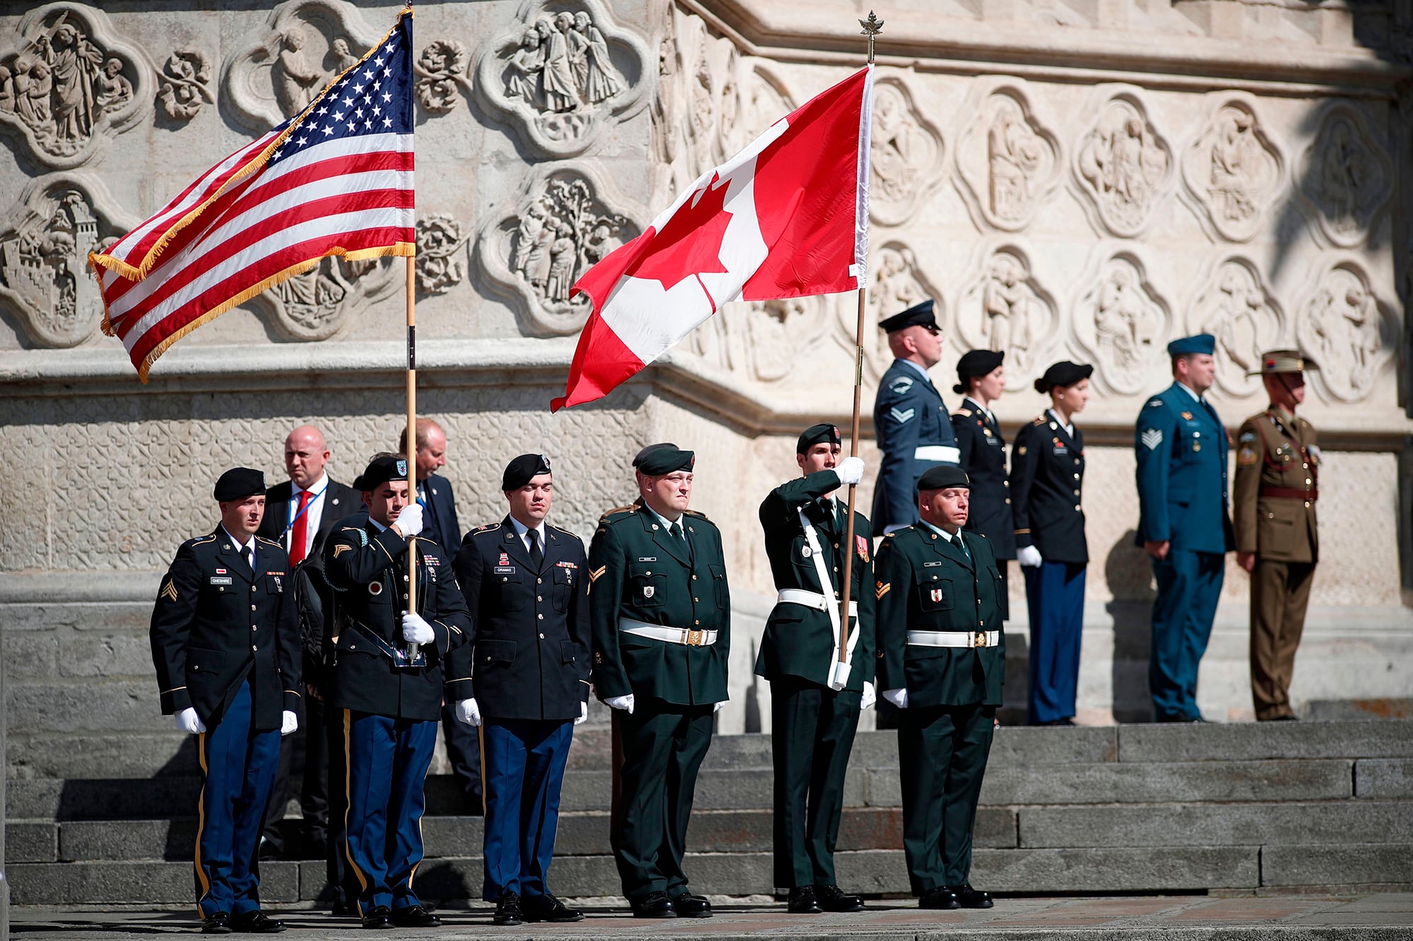
{"type": "Polygon", "coordinates": [[[589,699],[589,567],[584,543],[545,524],[536,567],[507,516],[461,543],[456,581],[472,616],[480,714],[562,722],[589,699]]]}

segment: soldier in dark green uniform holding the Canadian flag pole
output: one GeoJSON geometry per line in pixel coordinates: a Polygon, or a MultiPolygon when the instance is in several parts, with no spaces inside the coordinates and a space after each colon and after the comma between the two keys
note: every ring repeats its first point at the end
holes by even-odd
{"type": "Polygon", "coordinates": [[[855,513],[851,617],[841,639],[848,507],[829,495],[862,480],[863,461],[841,461],[839,430],[812,425],[796,442],[796,462],[803,476],[760,504],[779,592],[756,658],[756,673],[770,681],[776,886],[790,890],[793,913],[862,911],[863,900],[836,884],[834,845],[859,711],[873,705],[873,569],[869,521],[855,513]]]}

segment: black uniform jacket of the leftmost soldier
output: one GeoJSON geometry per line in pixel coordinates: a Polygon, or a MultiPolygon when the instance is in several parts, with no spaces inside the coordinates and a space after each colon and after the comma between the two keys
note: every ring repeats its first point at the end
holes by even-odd
{"type": "Polygon", "coordinates": [[[148,630],[162,714],[195,708],[213,726],[253,680],[254,728],[278,729],[300,709],[300,637],[290,557],[256,538],[246,565],[225,528],[187,540],[162,578],[148,630]]]}

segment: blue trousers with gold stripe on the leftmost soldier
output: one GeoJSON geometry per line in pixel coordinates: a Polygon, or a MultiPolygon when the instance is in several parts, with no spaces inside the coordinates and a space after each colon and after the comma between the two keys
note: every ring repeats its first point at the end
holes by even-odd
{"type": "Polygon", "coordinates": [[[280,767],[280,729],[257,732],[253,719],[250,684],[242,682],[220,722],[196,736],[196,907],[203,918],[260,910],[256,849],[280,767]]]}

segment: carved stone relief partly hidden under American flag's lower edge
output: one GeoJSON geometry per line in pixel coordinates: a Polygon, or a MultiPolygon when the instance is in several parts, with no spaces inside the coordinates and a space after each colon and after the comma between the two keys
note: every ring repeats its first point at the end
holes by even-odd
{"type": "Polygon", "coordinates": [[[333,256],[257,294],[250,304],[270,311],[276,328],[290,339],[322,341],[338,333],[357,311],[401,288],[400,267],[393,259],[350,261],[333,256]]]}

